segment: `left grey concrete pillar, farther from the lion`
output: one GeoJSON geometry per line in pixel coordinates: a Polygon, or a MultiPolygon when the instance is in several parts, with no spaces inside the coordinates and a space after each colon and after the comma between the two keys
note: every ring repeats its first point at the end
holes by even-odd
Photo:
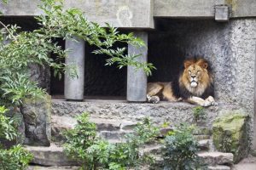
{"type": "Polygon", "coordinates": [[[65,99],[82,100],[84,99],[84,40],[76,39],[66,40],[66,49],[72,51],[68,53],[65,63],[67,65],[76,65],[78,77],[70,77],[65,74],[64,95],[65,99]]]}

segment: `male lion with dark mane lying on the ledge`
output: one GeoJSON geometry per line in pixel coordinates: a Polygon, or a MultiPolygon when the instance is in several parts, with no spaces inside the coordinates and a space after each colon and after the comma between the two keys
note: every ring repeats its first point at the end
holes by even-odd
{"type": "Polygon", "coordinates": [[[217,105],[214,99],[212,71],[206,59],[186,59],[176,81],[148,82],[148,102],[186,101],[190,104],[217,105]]]}

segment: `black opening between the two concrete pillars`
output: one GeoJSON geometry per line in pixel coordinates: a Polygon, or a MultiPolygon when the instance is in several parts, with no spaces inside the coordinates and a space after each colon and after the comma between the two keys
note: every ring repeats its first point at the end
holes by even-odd
{"type": "MultiPolygon", "coordinates": [[[[113,48],[127,45],[118,43],[113,48]]],[[[107,66],[106,55],[92,54],[95,47],[85,45],[84,96],[93,99],[125,99],[127,69],[107,66]]],[[[127,53],[127,52],[126,52],[127,53]]]]}

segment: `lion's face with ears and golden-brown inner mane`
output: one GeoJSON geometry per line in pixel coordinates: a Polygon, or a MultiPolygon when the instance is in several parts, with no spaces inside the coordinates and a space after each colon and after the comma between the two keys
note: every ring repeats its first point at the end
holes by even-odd
{"type": "Polygon", "coordinates": [[[212,83],[207,60],[186,59],[183,66],[183,73],[179,77],[180,87],[186,88],[195,96],[201,96],[212,83]]]}

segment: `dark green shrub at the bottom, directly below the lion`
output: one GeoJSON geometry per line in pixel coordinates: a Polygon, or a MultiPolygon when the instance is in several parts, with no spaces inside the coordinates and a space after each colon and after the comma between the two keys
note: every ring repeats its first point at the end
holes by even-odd
{"type": "Polygon", "coordinates": [[[180,124],[166,136],[162,156],[166,170],[193,170],[200,167],[198,142],[193,137],[194,127],[180,124]]]}

